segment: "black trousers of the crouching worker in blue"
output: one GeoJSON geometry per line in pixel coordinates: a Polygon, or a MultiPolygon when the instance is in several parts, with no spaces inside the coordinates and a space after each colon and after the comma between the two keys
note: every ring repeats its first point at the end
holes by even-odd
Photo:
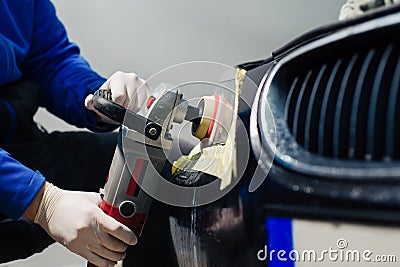
{"type": "MultiPolygon", "coordinates": [[[[116,134],[43,133],[32,120],[39,94],[40,88],[30,82],[0,88],[0,147],[63,189],[98,191],[104,186],[116,134]]],[[[0,236],[0,262],[26,258],[54,242],[24,219],[0,221],[0,236]]]]}

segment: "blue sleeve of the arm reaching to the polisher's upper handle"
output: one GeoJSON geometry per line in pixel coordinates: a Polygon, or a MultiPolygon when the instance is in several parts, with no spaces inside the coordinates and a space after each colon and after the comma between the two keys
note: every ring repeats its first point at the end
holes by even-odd
{"type": "Polygon", "coordinates": [[[69,42],[49,0],[37,0],[34,9],[31,47],[22,66],[24,76],[41,85],[41,105],[47,110],[77,127],[95,130],[94,113],[85,108],[84,100],[105,79],[69,42]]]}

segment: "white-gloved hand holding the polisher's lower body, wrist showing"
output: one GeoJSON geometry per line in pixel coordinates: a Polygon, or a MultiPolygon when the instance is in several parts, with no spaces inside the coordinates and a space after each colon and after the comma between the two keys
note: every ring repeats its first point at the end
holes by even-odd
{"type": "Polygon", "coordinates": [[[137,238],[128,227],[103,213],[100,202],[96,193],[46,184],[34,221],[54,240],[96,266],[114,266],[137,238]]]}

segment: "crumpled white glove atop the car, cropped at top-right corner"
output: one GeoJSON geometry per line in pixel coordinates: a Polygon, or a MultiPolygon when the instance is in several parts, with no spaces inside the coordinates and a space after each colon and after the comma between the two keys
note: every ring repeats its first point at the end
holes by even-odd
{"type": "MultiPolygon", "coordinates": [[[[400,0],[384,0],[383,5],[389,6],[400,3],[400,0]]],[[[377,0],[347,0],[340,9],[339,20],[352,19],[365,12],[382,7],[382,2],[377,0]]]]}

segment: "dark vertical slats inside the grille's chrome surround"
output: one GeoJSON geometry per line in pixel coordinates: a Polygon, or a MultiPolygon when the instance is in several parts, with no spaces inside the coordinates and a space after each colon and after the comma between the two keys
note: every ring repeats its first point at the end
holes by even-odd
{"type": "Polygon", "coordinates": [[[377,42],[290,74],[284,117],[306,150],[343,159],[399,159],[400,44],[377,42]]]}

